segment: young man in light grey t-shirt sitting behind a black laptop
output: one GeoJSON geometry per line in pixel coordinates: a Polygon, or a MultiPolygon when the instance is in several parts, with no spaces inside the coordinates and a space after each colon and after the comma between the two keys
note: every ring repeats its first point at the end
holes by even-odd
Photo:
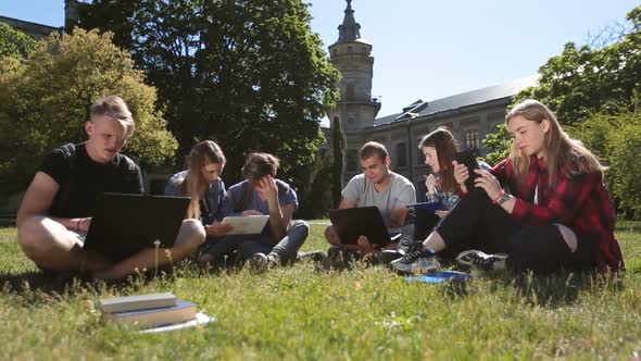
{"type": "MultiPolygon", "coordinates": [[[[384,145],[369,141],[360,151],[363,174],[354,176],[342,190],[339,209],[377,207],[382,215],[386,227],[401,227],[405,221],[407,208],[416,203],[414,185],[404,176],[391,172],[390,158],[384,145]]],[[[374,249],[367,237],[361,236],[357,245],[343,245],[336,229],[328,226],[325,238],[335,247],[349,250],[361,250],[363,254],[374,249]]],[[[395,249],[395,244],[388,248],[395,249]]]]}

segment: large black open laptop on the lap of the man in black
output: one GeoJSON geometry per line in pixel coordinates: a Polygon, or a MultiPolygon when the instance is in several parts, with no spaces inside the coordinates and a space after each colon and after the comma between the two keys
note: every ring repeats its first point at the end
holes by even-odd
{"type": "Polygon", "coordinates": [[[187,197],[103,194],[83,249],[118,262],[156,240],[160,248],[173,247],[188,206],[187,197]]]}

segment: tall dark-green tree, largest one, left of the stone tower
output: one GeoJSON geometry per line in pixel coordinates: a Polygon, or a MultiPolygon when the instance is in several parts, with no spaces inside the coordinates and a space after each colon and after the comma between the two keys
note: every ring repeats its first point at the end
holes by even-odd
{"type": "Polygon", "coordinates": [[[280,177],[306,185],[309,175],[294,170],[312,164],[323,144],[318,120],[336,102],[339,73],[301,0],[111,3],[85,4],[79,26],[113,30],[130,47],[159,89],[181,153],[215,139],[234,172],[247,152],[272,152],[281,159],[280,177]]]}

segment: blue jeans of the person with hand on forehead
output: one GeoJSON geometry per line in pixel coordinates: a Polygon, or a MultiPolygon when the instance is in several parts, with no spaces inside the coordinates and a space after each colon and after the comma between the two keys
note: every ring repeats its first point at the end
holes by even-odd
{"type": "Polygon", "coordinates": [[[265,253],[278,257],[282,263],[296,260],[298,250],[303,246],[310,225],[302,220],[292,221],[287,234],[280,241],[275,242],[271,235],[231,235],[221,238],[209,247],[204,253],[214,257],[214,264],[223,264],[225,257],[237,251],[237,261],[244,262],[256,253],[265,253]]]}

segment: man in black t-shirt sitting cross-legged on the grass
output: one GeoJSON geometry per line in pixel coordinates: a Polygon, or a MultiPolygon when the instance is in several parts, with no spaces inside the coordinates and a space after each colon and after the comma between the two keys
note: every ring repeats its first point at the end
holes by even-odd
{"type": "Polygon", "coordinates": [[[86,142],[63,146],[45,157],[17,214],[18,244],[39,267],[91,271],[95,278],[117,279],[180,261],[204,241],[200,222],[185,220],[171,249],[144,249],[117,263],[83,250],[101,194],[143,191],[140,169],[120,153],[134,128],[124,100],[109,96],[91,105],[86,142]]]}

